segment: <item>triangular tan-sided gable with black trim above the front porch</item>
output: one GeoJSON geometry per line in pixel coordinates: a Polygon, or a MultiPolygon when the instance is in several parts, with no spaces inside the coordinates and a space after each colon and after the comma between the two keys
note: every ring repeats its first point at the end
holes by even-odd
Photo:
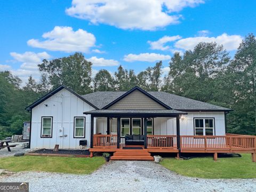
{"type": "Polygon", "coordinates": [[[151,94],[135,86],[130,91],[127,91],[121,97],[110,102],[102,109],[172,109],[159,101],[151,94]]]}

